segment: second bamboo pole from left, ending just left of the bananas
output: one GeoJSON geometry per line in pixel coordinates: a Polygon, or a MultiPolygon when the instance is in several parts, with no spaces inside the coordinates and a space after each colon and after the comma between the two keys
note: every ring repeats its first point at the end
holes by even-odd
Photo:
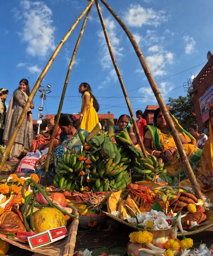
{"type": "MultiPolygon", "coordinates": [[[[93,2],[92,2],[92,4],[93,4],[93,2]]],[[[84,28],[86,26],[87,19],[88,19],[89,13],[91,11],[91,8],[92,8],[92,5],[89,7],[89,9],[87,11],[87,14],[86,14],[86,17],[84,18],[83,25],[81,27],[81,31],[80,31],[80,34],[78,36],[75,48],[74,48],[73,53],[72,53],[72,58],[70,60],[70,64],[69,64],[69,67],[68,67],[68,70],[67,70],[67,75],[66,75],[66,78],[65,78],[64,87],[63,87],[62,94],[61,94],[61,100],[60,100],[60,103],[59,103],[58,113],[57,113],[57,116],[56,116],[55,125],[54,125],[54,129],[53,129],[53,134],[51,136],[50,146],[49,146],[49,149],[48,149],[47,160],[46,160],[46,164],[45,164],[45,175],[44,175],[44,185],[45,186],[47,184],[50,154],[51,154],[51,151],[52,151],[52,148],[53,148],[53,142],[54,142],[54,138],[55,138],[55,134],[56,134],[56,129],[57,129],[57,126],[58,126],[58,123],[59,123],[61,109],[62,109],[62,106],[63,106],[63,103],[64,103],[64,97],[65,97],[65,93],[66,93],[66,89],[67,89],[67,84],[68,84],[68,81],[69,81],[69,78],[70,78],[70,73],[71,73],[71,70],[72,70],[72,66],[73,66],[73,63],[74,63],[74,60],[75,60],[75,57],[76,57],[78,46],[81,42],[81,38],[82,38],[82,35],[83,35],[83,32],[84,32],[84,28]]]]}

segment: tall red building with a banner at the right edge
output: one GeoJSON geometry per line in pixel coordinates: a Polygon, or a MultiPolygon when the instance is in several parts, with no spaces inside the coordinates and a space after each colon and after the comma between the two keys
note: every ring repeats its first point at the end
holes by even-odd
{"type": "Polygon", "coordinates": [[[213,103],[213,58],[209,58],[206,65],[192,82],[195,97],[193,103],[198,127],[203,130],[208,123],[208,109],[213,103]]]}

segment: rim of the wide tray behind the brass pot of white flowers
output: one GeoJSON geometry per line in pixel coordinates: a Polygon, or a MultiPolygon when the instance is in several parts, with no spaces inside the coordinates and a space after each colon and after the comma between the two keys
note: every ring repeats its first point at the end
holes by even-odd
{"type": "MultiPolygon", "coordinates": [[[[125,220],[122,220],[118,217],[115,217],[111,213],[108,213],[108,212],[103,212],[103,213],[105,213],[108,217],[110,217],[126,226],[129,226],[130,228],[138,229],[135,225],[133,225],[129,222],[126,222],[125,220]]],[[[204,222],[202,222],[198,228],[184,233],[185,236],[200,233],[202,231],[205,231],[208,228],[211,228],[211,226],[213,226],[213,210],[206,210],[205,214],[207,215],[207,219],[204,222]]],[[[177,236],[182,236],[182,233],[178,232],[177,236]]]]}

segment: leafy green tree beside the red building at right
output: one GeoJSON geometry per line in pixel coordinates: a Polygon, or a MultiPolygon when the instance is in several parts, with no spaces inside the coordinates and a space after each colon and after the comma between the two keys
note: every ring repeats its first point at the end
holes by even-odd
{"type": "Polygon", "coordinates": [[[187,94],[186,97],[179,96],[177,99],[169,97],[167,105],[171,107],[170,112],[184,129],[188,129],[191,124],[196,123],[193,96],[187,94]]]}

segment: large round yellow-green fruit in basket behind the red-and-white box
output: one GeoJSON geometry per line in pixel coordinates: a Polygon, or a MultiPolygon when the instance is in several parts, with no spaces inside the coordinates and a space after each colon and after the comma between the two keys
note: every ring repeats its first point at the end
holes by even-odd
{"type": "Polygon", "coordinates": [[[64,214],[56,208],[45,207],[33,213],[33,225],[36,232],[66,226],[64,214]]]}

